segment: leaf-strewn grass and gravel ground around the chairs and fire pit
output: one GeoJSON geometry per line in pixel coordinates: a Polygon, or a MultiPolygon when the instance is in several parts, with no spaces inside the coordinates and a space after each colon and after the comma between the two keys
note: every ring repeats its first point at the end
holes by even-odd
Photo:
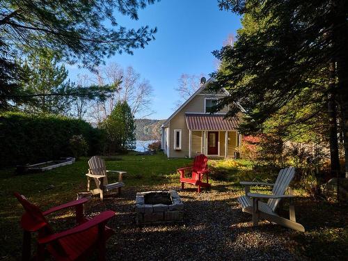
{"type": "MultiPolygon", "coordinates": [[[[22,206],[12,195],[13,191],[23,193],[41,209],[66,203],[76,198],[78,191],[86,190],[88,158],[82,158],[69,166],[55,168],[43,173],[15,175],[14,169],[0,170],[0,259],[17,260],[22,249],[22,229],[19,219],[22,206]]],[[[238,180],[252,180],[255,177],[274,178],[252,171],[248,161],[213,161],[212,189],[196,193],[189,188],[179,191],[185,204],[185,221],[182,225],[150,226],[139,228],[134,224],[132,205],[136,191],[150,189],[179,189],[179,175],[176,168],[186,166],[190,159],[167,159],[165,155],[120,155],[107,159],[110,170],[127,171],[125,187],[121,196],[100,203],[93,198],[88,214],[113,209],[116,218],[110,226],[116,235],[109,240],[110,260],[132,259],[283,259],[289,260],[344,260],[348,256],[347,205],[326,201],[315,201],[303,191],[295,191],[296,216],[306,232],[295,232],[280,226],[262,222],[258,228],[251,227],[251,216],[242,213],[236,202],[242,194],[238,180]],[[224,180],[219,181],[221,173],[224,180]],[[165,240],[163,238],[166,238],[165,240]],[[195,239],[198,250],[180,242],[195,239]],[[168,241],[169,240],[169,241],[168,241]],[[151,248],[157,242],[158,249],[148,255],[142,247],[151,248]],[[175,245],[176,244],[176,245],[175,245]],[[277,247],[276,247],[276,246],[277,247]],[[132,247],[130,247],[132,246],[132,247]],[[170,246],[170,247],[169,247],[170,246]],[[176,247],[177,246],[177,247],[176,247]],[[200,252],[205,246],[209,251],[200,252]],[[183,247],[186,251],[180,249],[183,247]],[[192,249],[191,249],[192,248],[192,249]],[[189,252],[196,255],[191,255],[189,252]],[[119,255],[116,255],[116,252],[119,255]],[[141,254],[142,253],[142,254],[141,254]],[[250,257],[248,255],[251,255],[250,257]],[[171,254],[171,255],[169,255],[171,254]],[[267,255],[266,255],[267,254],[267,255]],[[115,256],[114,256],[115,255],[115,256]],[[180,257],[180,258],[178,258],[180,257]],[[268,258],[267,258],[268,257],[268,258]]],[[[112,174],[111,174],[112,175],[112,174]]],[[[109,182],[117,180],[115,175],[109,182]]],[[[262,188],[258,188],[262,191],[262,188]]],[[[61,228],[61,219],[72,219],[72,212],[52,216],[56,228],[61,228]]]]}

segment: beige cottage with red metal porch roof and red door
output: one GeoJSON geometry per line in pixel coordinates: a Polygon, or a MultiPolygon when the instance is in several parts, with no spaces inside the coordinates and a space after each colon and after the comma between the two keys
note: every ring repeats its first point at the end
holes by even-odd
{"type": "Polygon", "coordinates": [[[226,90],[211,93],[205,87],[182,104],[161,126],[161,144],[167,157],[194,157],[203,153],[208,157],[236,157],[241,145],[237,132],[239,118],[224,119],[228,106],[211,114],[216,100],[228,95],[226,90]]]}

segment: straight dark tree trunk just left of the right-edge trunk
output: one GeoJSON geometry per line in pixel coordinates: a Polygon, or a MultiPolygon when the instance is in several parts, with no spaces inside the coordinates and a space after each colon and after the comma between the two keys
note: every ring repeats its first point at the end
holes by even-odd
{"type": "Polygon", "coordinates": [[[329,62],[329,97],[328,97],[328,115],[329,115],[329,139],[330,139],[330,160],[331,173],[334,177],[340,175],[340,156],[338,153],[338,132],[337,132],[337,109],[335,95],[335,62],[329,62]]]}

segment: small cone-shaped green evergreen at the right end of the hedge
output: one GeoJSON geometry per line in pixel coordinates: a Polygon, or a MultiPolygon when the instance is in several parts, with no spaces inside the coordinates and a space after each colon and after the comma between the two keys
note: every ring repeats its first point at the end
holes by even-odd
{"type": "Polygon", "coordinates": [[[118,102],[100,127],[106,132],[109,153],[135,148],[134,116],[127,102],[118,102]]]}

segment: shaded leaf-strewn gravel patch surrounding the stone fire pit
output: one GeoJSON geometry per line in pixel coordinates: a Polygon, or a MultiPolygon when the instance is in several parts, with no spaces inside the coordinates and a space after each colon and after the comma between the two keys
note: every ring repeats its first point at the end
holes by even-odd
{"type": "MultiPolygon", "coordinates": [[[[308,231],[301,233],[268,221],[253,227],[252,216],[242,212],[237,203],[237,197],[243,192],[230,184],[217,184],[202,193],[197,193],[195,187],[178,188],[172,184],[127,187],[120,195],[103,202],[98,197],[91,200],[90,209],[86,211],[88,216],[107,209],[116,212],[108,225],[116,231],[108,242],[109,260],[296,260],[306,255],[306,251],[314,259],[325,253],[331,258],[345,256],[347,243],[333,241],[329,232],[324,237],[320,233],[321,230],[347,227],[345,206],[297,198],[296,219],[308,231]],[[184,201],[184,223],[136,226],[136,192],[158,189],[177,189],[184,201]],[[301,246],[305,246],[306,251],[301,251],[301,246]],[[329,247],[333,250],[328,250],[329,247]]],[[[287,217],[287,203],[283,208],[285,210],[281,209],[280,214],[287,217]]],[[[50,220],[54,221],[57,230],[74,221],[66,216],[50,220]]]]}

